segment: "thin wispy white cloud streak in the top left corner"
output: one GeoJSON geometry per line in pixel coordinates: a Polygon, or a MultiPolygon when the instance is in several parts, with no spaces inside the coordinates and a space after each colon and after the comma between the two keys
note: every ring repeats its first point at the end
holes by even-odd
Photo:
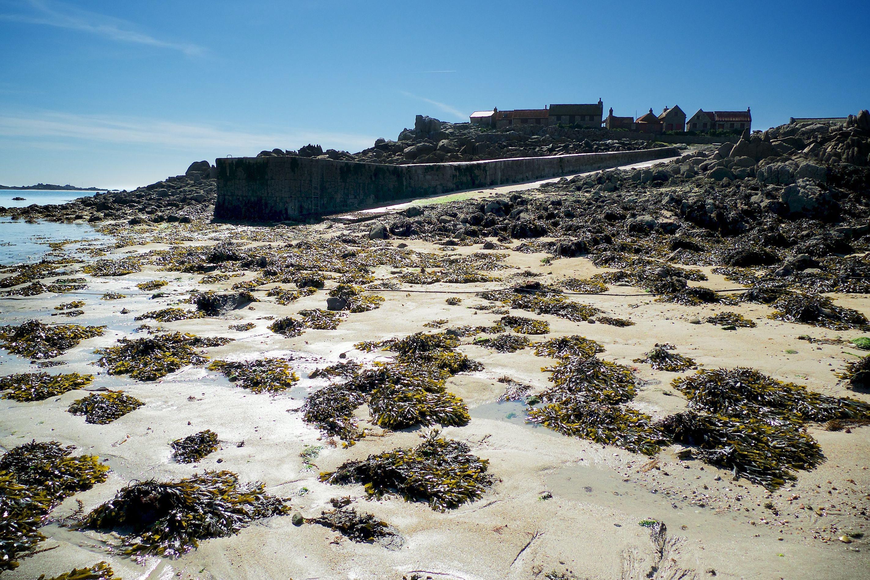
{"type": "Polygon", "coordinates": [[[193,43],[175,43],[160,40],[142,32],[132,30],[131,23],[102,14],[78,10],[63,3],[46,0],[28,0],[29,12],[0,13],[0,20],[9,22],[54,26],[69,30],[79,30],[122,43],[145,44],[157,48],[179,50],[188,57],[204,54],[205,49],[193,43]]]}

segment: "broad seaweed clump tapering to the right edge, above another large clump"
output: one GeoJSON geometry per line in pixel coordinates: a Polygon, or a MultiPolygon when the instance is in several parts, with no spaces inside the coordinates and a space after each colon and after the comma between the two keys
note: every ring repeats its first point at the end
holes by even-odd
{"type": "Polygon", "coordinates": [[[828,397],[795,383],[783,383],[758,370],[699,370],[673,380],[686,395],[689,409],[741,419],[747,415],[773,426],[785,423],[866,421],[870,404],[847,397],[828,397]]]}

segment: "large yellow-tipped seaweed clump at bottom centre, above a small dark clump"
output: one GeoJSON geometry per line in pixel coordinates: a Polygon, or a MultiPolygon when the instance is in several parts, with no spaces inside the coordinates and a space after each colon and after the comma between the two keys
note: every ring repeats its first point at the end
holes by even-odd
{"type": "Polygon", "coordinates": [[[320,474],[326,483],[364,483],[374,498],[396,494],[408,502],[429,503],[445,511],[483,496],[492,485],[489,462],[469,453],[467,444],[439,437],[439,430],[421,435],[413,449],[386,451],[362,461],[343,463],[320,474]]]}

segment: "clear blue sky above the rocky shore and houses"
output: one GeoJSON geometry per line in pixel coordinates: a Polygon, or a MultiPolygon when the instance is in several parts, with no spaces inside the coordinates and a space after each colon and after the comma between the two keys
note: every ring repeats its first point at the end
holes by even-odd
{"type": "Polygon", "coordinates": [[[131,188],[493,106],[751,106],[760,129],[870,107],[866,0],[0,0],[0,55],[7,185],[131,188]]]}

